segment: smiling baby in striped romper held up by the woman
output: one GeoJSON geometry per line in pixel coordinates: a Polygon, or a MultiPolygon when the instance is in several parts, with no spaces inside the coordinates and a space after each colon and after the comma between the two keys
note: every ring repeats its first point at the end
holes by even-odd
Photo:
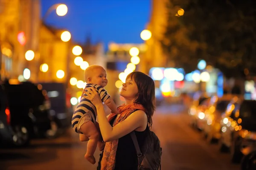
{"type": "MultiPolygon", "coordinates": [[[[108,84],[107,73],[106,70],[102,66],[92,65],[84,70],[84,80],[87,82],[84,91],[86,92],[86,88],[94,87],[97,92],[99,92],[99,96],[102,99],[102,102],[111,109],[112,113],[119,114],[116,109],[116,104],[107,93],[107,91],[103,88],[108,84]]],[[[72,127],[76,133],[79,133],[79,137],[81,141],[88,141],[87,143],[87,152],[84,155],[90,163],[95,164],[95,158],[93,156],[97,143],[100,150],[103,150],[102,147],[102,139],[100,140],[99,134],[99,124],[96,122],[97,111],[95,106],[91,103],[91,101],[87,100],[83,96],[81,96],[81,101],[75,109],[72,118],[72,127]]]]}

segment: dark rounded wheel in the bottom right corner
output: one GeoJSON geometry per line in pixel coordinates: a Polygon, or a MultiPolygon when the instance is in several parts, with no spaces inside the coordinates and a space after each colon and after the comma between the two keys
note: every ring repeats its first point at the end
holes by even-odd
{"type": "Polygon", "coordinates": [[[241,161],[241,170],[256,170],[256,152],[244,156],[241,161]]]}

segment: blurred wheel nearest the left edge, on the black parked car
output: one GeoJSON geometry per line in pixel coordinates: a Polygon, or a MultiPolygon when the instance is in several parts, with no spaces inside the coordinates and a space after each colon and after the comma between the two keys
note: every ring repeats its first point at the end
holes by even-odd
{"type": "Polygon", "coordinates": [[[17,124],[12,127],[12,144],[15,147],[24,147],[29,145],[29,130],[23,124],[17,124]]]}

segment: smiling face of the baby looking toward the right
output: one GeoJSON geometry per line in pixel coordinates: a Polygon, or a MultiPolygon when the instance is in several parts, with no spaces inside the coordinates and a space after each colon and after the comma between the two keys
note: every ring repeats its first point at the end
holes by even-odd
{"type": "Polygon", "coordinates": [[[91,76],[92,84],[97,84],[99,86],[105,87],[108,84],[107,73],[103,68],[96,68],[93,70],[93,75],[91,76]]]}

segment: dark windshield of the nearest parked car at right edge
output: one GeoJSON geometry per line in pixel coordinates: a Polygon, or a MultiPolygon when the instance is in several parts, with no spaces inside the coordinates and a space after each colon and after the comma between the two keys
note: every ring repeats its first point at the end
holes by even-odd
{"type": "Polygon", "coordinates": [[[243,129],[256,131],[256,101],[244,101],[241,104],[239,118],[243,129]]]}

